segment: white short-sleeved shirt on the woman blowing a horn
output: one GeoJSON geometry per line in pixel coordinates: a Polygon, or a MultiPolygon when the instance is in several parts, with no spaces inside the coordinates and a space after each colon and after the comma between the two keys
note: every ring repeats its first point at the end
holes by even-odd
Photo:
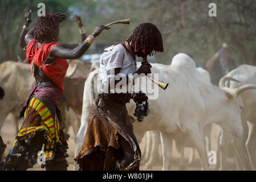
{"type": "Polygon", "coordinates": [[[101,92],[103,92],[104,86],[107,85],[107,71],[114,68],[121,68],[120,73],[125,76],[136,71],[136,60],[121,44],[105,48],[103,55],[100,57],[101,92]]]}

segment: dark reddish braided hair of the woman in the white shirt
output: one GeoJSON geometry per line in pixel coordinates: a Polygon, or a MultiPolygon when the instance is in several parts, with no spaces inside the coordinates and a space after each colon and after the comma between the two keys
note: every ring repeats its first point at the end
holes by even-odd
{"type": "Polygon", "coordinates": [[[131,44],[133,49],[142,49],[144,53],[147,48],[155,52],[164,52],[162,35],[159,29],[152,23],[139,24],[126,41],[131,44]]]}

